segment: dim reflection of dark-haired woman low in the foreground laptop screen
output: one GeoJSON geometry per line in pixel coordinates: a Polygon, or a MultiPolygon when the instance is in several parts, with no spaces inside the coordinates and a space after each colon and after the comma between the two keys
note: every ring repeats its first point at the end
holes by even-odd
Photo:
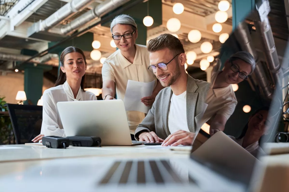
{"type": "Polygon", "coordinates": [[[268,107],[258,109],[253,115],[251,115],[248,123],[238,138],[229,136],[254,157],[256,157],[259,152],[264,153],[259,146],[259,140],[267,131],[265,123],[268,117],[268,111],[268,107]]]}

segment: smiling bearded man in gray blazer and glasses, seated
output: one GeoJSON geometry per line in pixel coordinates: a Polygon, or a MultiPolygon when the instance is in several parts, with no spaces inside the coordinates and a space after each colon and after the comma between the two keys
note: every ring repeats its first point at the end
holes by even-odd
{"type": "Polygon", "coordinates": [[[163,34],[148,42],[149,70],[166,87],[159,92],[135,138],[162,145],[191,145],[204,113],[210,84],[186,74],[186,54],[181,41],[163,34]]]}

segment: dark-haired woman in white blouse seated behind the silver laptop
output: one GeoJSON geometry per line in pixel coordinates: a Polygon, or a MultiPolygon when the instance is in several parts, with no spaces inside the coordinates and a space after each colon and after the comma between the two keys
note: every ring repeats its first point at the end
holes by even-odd
{"type": "Polygon", "coordinates": [[[77,47],[67,47],[60,55],[60,71],[55,87],[43,93],[43,117],[41,133],[32,141],[38,142],[43,136],[65,136],[57,102],[97,100],[92,92],[84,91],[86,58],[77,47]]]}

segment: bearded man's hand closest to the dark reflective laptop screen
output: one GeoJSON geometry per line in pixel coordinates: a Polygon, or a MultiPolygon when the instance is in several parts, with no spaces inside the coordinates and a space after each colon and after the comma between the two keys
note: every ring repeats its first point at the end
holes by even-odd
{"type": "Polygon", "coordinates": [[[179,130],[170,134],[162,143],[162,146],[192,145],[195,133],[179,130]]]}

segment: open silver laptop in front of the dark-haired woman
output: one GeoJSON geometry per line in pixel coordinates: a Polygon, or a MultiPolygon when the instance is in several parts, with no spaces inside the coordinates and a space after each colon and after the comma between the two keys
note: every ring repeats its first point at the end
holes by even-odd
{"type": "Polygon", "coordinates": [[[101,145],[140,145],[132,141],[122,100],[58,102],[66,136],[98,136],[101,145]]]}

